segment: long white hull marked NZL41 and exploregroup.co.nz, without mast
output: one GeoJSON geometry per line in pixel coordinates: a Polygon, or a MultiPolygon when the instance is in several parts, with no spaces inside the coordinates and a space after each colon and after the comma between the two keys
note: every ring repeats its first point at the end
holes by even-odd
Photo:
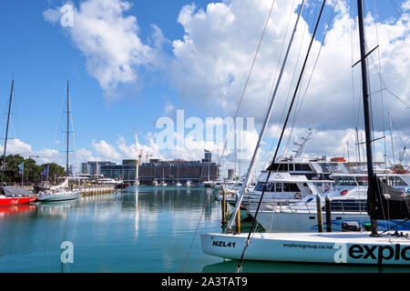
{"type": "MultiPolygon", "coordinates": [[[[370,233],[255,233],[246,260],[325,264],[409,265],[410,238],[370,233]]],[[[201,234],[202,251],[241,259],[248,234],[201,234]]]]}

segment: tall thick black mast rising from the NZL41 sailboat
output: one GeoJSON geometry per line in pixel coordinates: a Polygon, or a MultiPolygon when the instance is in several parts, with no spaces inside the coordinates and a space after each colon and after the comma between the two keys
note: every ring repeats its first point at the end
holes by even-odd
{"type": "Polygon", "coordinates": [[[360,36],[360,57],[362,66],[362,90],[363,90],[363,103],[364,103],[364,133],[366,142],[366,159],[367,159],[367,176],[368,176],[368,208],[370,215],[370,222],[372,227],[372,236],[377,236],[377,222],[372,217],[372,209],[374,209],[375,193],[378,190],[374,188],[377,184],[373,183],[376,180],[373,169],[373,151],[372,151],[372,131],[370,120],[370,95],[368,92],[367,83],[367,65],[366,65],[366,52],[365,52],[365,39],[364,39],[364,11],[363,0],[357,0],[357,12],[359,18],[359,36],[360,36]]]}

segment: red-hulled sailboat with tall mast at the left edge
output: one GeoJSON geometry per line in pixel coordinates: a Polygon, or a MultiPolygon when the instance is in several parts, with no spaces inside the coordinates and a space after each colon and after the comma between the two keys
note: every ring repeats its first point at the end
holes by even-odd
{"type": "Polygon", "coordinates": [[[33,202],[36,200],[37,196],[32,192],[24,189],[4,185],[5,176],[5,148],[7,147],[7,135],[8,135],[8,125],[10,121],[10,109],[13,98],[13,88],[15,85],[15,80],[12,81],[10,99],[8,102],[8,115],[7,115],[7,125],[5,127],[5,147],[3,149],[3,162],[2,162],[2,177],[1,177],[1,192],[0,192],[0,206],[15,206],[20,204],[25,204],[33,202]]]}

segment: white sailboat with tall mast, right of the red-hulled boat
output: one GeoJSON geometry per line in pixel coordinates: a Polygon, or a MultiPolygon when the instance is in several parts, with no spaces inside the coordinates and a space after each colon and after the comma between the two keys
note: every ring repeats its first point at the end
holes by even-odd
{"type": "Polygon", "coordinates": [[[69,101],[69,87],[67,81],[67,177],[64,182],[57,186],[52,186],[50,189],[40,192],[37,200],[42,202],[73,200],[80,196],[80,190],[73,190],[69,186],[69,165],[68,165],[68,153],[69,153],[69,114],[70,114],[70,101],[69,101]]]}

